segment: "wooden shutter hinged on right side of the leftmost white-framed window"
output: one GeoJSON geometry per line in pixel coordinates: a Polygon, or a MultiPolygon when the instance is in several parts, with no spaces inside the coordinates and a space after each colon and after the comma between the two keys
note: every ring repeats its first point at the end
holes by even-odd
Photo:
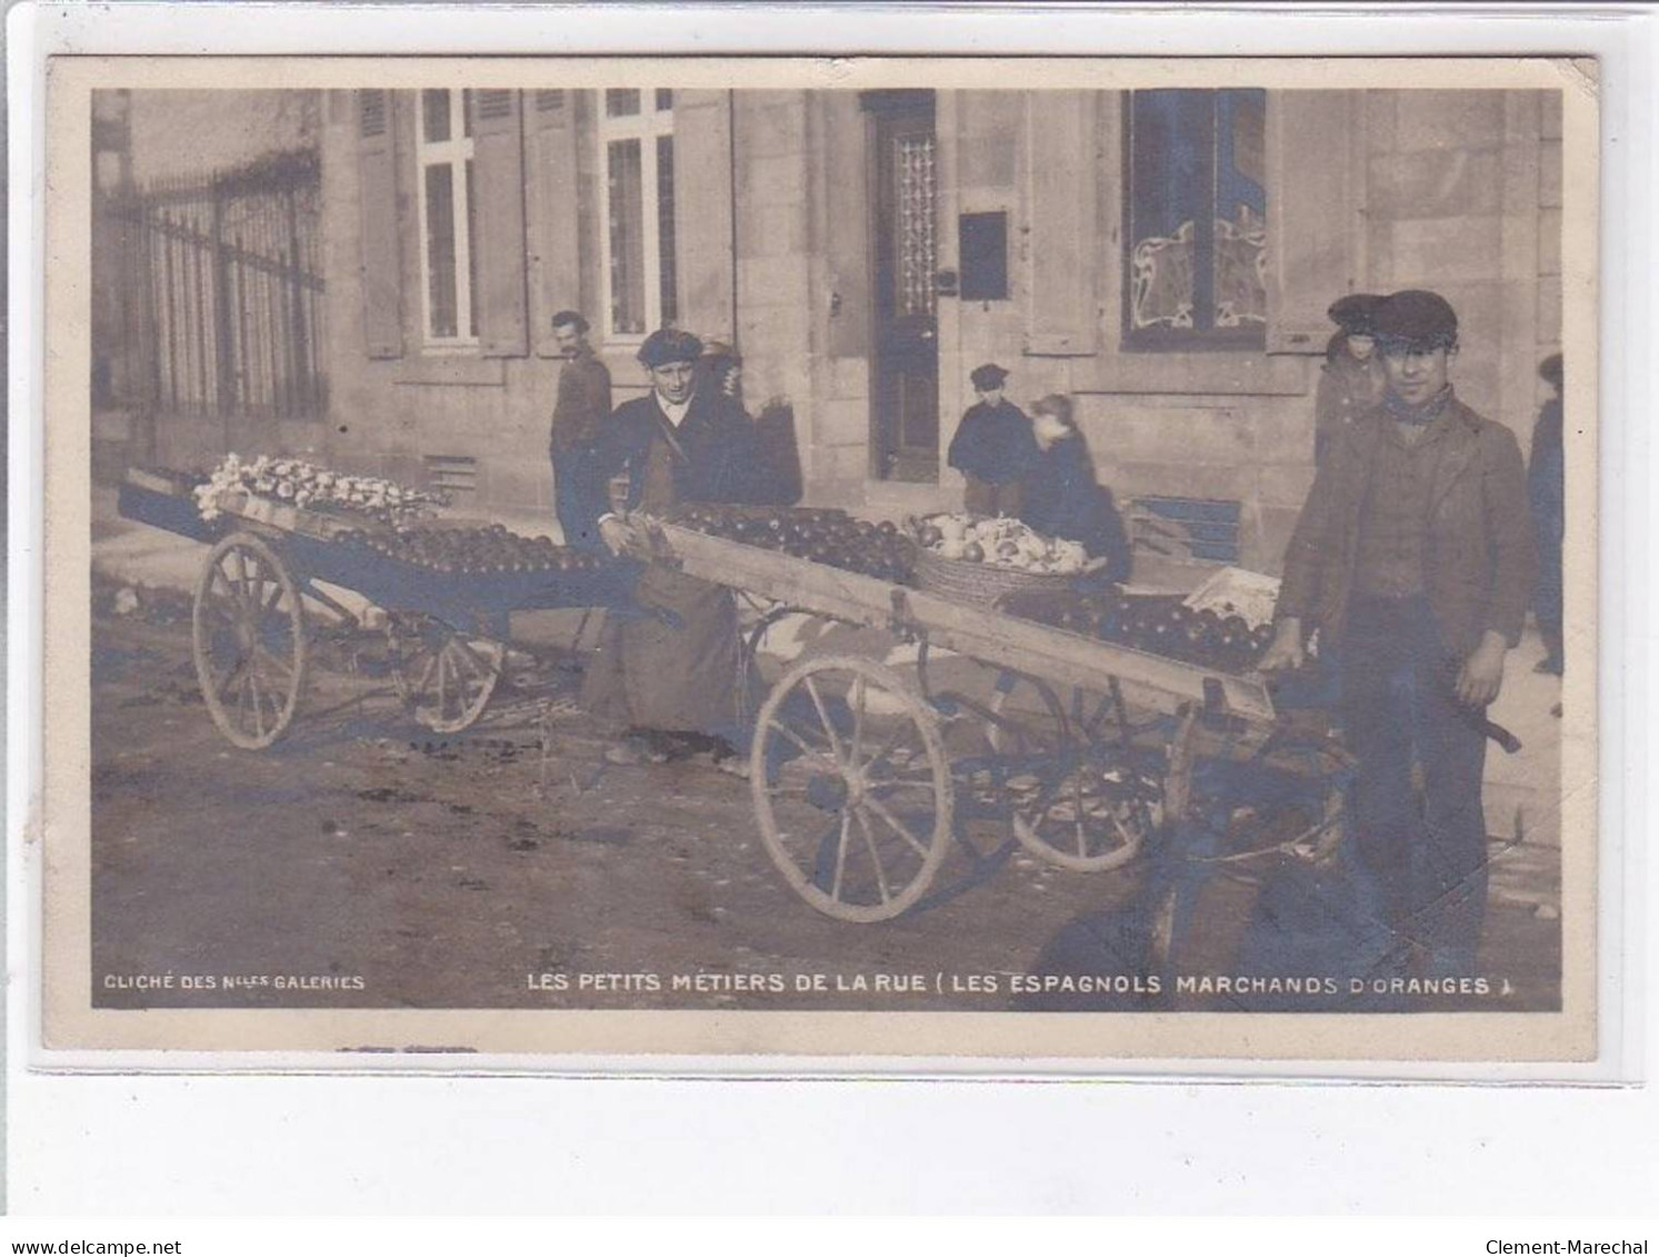
{"type": "Polygon", "coordinates": [[[478,348],[486,358],[528,352],[524,138],[519,93],[473,91],[474,272],[478,348]]]}

